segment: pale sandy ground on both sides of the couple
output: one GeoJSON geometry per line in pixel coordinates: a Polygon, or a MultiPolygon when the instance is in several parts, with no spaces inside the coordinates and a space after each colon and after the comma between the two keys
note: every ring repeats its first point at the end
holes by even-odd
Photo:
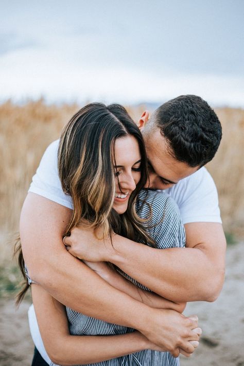
{"type": "MultiPolygon", "coordinates": [[[[191,358],[182,366],[244,366],[244,243],[228,248],[226,280],[215,303],[187,305],[185,315],[196,313],[203,335],[191,358]]],[[[0,300],[0,365],[28,366],[33,345],[27,324],[28,302],[15,311],[11,300],[0,300]]]]}

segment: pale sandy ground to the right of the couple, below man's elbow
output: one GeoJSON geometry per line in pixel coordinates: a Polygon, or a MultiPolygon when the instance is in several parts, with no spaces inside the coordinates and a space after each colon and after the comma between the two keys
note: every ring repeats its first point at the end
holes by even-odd
{"type": "Polygon", "coordinates": [[[203,334],[181,366],[244,366],[244,243],[228,248],[223,290],[214,303],[189,303],[185,315],[197,314],[203,334]]]}

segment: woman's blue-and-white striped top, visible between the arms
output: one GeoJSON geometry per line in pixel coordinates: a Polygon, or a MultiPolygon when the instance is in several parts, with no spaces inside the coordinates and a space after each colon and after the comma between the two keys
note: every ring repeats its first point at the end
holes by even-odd
{"type": "MultiPolygon", "coordinates": [[[[184,247],[185,231],[181,222],[177,204],[162,191],[142,190],[136,203],[136,211],[141,218],[151,218],[145,224],[150,237],[154,239],[156,248],[184,247]],[[146,204],[142,205],[146,197],[146,204]]],[[[118,270],[136,286],[149,290],[132,277],[118,270]]],[[[31,280],[30,280],[31,281],[31,280]]],[[[150,291],[150,290],[149,290],[150,291]]],[[[122,325],[95,319],[71,308],[66,307],[71,335],[119,335],[133,332],[134,329],[122,325]]],[[[94,350],[95,352],[95,350],[94,350]]],[[[179,366],[179,358],[174,358],[169,352],[144,350],[123,357],[89,364],[90,366],[179,366]]],[[[54,363],[51,363],[55,366],[54,363]]],[[[80,365],[79,365],[80,366],[80,365]]]]}

